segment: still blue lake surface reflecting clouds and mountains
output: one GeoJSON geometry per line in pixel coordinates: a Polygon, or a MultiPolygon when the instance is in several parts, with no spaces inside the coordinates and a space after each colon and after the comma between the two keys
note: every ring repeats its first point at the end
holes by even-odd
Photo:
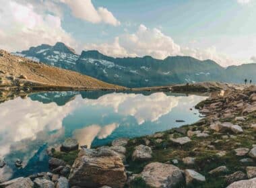
{"type": "Polygon", "coordinates": [[[172,93],[46,92],[0,104],[1,179],[48,171],[46,148],[67,137],[100,146],[115,138],[153,134],[199,120],[205,97],[172,93]],[[192,110],[190,109],[192,108],[192,110]],[[177,123],[176,120],[185,120],[177,123]],[[15,160],[24,161],[17,169],[15,160]]]}

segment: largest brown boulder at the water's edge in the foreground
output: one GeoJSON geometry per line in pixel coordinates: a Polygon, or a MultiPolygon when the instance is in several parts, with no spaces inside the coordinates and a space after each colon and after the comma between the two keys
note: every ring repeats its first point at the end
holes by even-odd
{"type": "Polygon", "coordinates": [[[121,188],[126,179],[125,167],[119,154],[103,147],[79,152],[69,175],[69,184],[89,188],[104,185],[121,188]]]}

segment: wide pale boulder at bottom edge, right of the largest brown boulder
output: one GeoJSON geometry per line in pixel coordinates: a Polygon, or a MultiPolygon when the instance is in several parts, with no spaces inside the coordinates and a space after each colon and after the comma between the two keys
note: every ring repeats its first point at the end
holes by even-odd
{"type": "Polygon", "coordinates": [[[181,169],[160,162],[146,165],[140,175],[149,187],[174,187],[184,181],[181,169]]]}

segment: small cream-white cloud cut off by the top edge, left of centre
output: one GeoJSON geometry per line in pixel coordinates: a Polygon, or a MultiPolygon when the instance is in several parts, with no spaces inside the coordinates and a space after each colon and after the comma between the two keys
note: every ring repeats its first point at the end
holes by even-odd
{"type": "Polygon", "coordinates": [[[90,21],[92,23],[108,23],[113,26],[119,26],[120,21],[118,21],[113,13],[108,11],[104,7],[98,7],[96,9],[92,4],[91,0],[60,0],[61,2],[67,4],[73,15],[77,18],[90,21]]]}

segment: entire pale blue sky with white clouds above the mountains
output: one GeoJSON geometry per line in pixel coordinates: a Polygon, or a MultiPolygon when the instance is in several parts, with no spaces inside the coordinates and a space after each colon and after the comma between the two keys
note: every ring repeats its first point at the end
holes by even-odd
{"type": "Polygon", "coordinates": [[[5,10],[0,8],[0,41],[13,40],[0,42],[6,50],[59,40],[78,53],[96,49],[111,56],[189,55],[222,66],[256,61],[255,0],[0,2],[6,4],[5,10]]]}

